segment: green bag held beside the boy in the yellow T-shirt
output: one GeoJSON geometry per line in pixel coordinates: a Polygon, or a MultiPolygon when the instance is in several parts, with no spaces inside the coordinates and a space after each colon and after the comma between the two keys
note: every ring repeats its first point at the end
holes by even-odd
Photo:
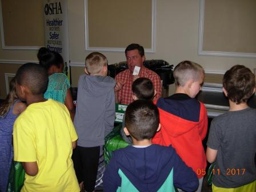
{"type": "Polygon", "coordinates": [[[25,181],[25,170],[21,162],[11,162],[7,192],[19,192],[25,181]]]}

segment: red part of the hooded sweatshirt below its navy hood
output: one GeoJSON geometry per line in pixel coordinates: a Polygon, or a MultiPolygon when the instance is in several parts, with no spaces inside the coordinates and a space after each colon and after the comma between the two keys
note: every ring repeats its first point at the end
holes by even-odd
{"type": "MultiPolygon", "coordinates": [[[[154,102],[157,104],[157,102],[154,102]]],[[[207,133],[207,111],[200,102],[199,121],[189,121],[159,108],[161,130],[152,142],[173,146],[178,155],[191,167],[198,178],[205,175],[206,155],[202,140],[207,133]]]]}

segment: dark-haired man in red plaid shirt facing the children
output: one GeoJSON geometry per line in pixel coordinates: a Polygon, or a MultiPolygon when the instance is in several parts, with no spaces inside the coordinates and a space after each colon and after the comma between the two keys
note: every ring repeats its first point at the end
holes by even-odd
{"type": "Polygon", "coordinates": [[[143,66],[143,62],[146,59],[144,48],[133,43],[126,47],[125,55],[129,69],[122,71],[115,77],[115,81],[117,82],[117,85],[115,86],[115,102],[125,105],[129,105],[131,102],[133,102],[131,84],[133,84],[135,79],[139,77],[149,78],[153,82],[155,91],[157,91],[154,100],[159,99],[159,97],[162,95],[161,79],[154,71],[151,71],[143,66]],[[135,66],[141,67],[138,75],[133,75],[135,66]]]}

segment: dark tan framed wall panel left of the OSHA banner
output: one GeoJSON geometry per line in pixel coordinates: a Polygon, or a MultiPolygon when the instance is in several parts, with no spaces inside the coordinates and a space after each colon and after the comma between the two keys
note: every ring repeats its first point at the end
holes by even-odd
{"type": "Polygon", "coordinates": [[[42,0],[2,0],[5,46],[43,46],[42,0]],[[22,37],[22,38],[21,38],[22,37]]]}

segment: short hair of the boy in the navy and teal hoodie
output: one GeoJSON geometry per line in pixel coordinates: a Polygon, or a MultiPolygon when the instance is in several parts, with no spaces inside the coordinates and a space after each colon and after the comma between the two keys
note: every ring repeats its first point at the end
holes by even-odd
{"type": "Polygon", "coordinates": [[[151,139],[159,126],[159,111],[151,101],[137,100],[125,111],[125,126],[137,141],[151,139]]]}

